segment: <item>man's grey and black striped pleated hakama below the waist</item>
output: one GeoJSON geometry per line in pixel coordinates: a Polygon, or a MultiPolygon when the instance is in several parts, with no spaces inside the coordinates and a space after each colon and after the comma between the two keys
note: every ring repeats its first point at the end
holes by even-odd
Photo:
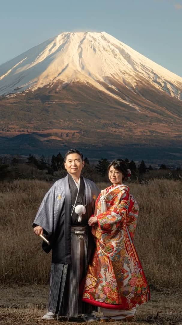
{"type": "Polygon", "coordinates": [[[48,311],[58,316],[77,317],[95,308],[82,302],[79,284],[86,275],[87,227],[71,227],[71,264],[51,264],[48,311]]]}

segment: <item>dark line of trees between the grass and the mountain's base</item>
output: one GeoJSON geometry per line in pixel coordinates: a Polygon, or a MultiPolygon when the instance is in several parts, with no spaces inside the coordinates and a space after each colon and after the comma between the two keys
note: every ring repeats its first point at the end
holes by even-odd
{"type": "MultiPolygon", "coordinates": [[[[121,158],[118,158],[121,160],[121,158]]],[[[87,157],[85,157],[85,167],[83,169],[83,175],[87,178],[90,178],[96,182],[105,182],[108,181],[108,165],[109,161],[107,158],[101,158],[98,160],[98,163],[95,165],[93,163],[90,164],[87,157]]],[[[125,158],[124,160],[127,164],[127,167],[131,170],[131,179],[142,179],[142,175],[147,172],[152,172],[153,167],[151,165],[146,166],[144,160],[140,162],[138,166],[136,166],[133,160],[129,160],[125,158]]],[[[169,170],[169,168],[165,164],[161,164],[159,167],[160,170],[169,170]]],[[[176,168],[176,171],[181,171],[180,167],[176,168]]],[[[37,175],[48,175],[48,179],[55,179],[64,177],[66,175],[66,171],[64,168],[64,158],[62,154],[59,152],[57,155],[52,155],[52,157],[45,158],[42,155],[39,159],[36,158],[34,155],[29,155],[27,157],[27,162],[25,162],[25,158],[22,156],[17,156],[17,158],[13,158],[8,160],[8,158],[4,159],[0,157],[0,180],[3,179],[11,179],[14,178],[25,178],[27,177],[34,177],[34,173],[37,175]],[[21,168],[21,164],[29,165],[28,170],[25,172],[26,167],[21,168]],[[43,171],[42,174],[36,174],[35,168],[40,171],[43,171]],[[29,171],[29,174],[28,174],[29,171]],[[50,177],[51,175],[51,177],[50,177]]],[[[44,177],[44,176],[43,176],[44,177]]],[[[47,176],[46,176],[47,177],[47,176]]]]}

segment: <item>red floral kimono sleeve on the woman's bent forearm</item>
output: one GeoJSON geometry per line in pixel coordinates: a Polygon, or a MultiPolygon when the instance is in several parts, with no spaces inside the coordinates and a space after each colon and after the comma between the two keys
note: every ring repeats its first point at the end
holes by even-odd
{"type": "Polygon", "coordinates": [[[129,192],[125,188],[109,202],[106,212],[97,215],[99,228],[110,231],[119,227],[122,219],[126,218],[129,205],[129,192]]]}

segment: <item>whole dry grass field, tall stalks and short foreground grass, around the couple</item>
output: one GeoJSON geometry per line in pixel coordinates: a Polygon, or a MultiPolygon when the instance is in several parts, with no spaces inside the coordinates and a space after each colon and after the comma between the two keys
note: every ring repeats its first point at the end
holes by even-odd
{"type": "MultiPolygon", "coordinates": [[[[41,250],[31,224],[50,186],[38,180],[0,184],[1,325],[44,324],[39,316],[46,309],[51,254],[41,250]]],[[[182,324],[182,182],[155,179],[129,187],[140,207],[134,242],[154,289],[136,324],[182,324]]]]}

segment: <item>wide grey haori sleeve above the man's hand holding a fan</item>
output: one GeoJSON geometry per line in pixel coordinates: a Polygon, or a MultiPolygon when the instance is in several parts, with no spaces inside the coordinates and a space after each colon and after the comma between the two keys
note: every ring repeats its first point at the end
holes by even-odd
{"type": "Polygon", "coordinates": [[[46,235],[51,235],[53,231],[55,190],[56,185],[54,183],[44,196],[32,225],[33,227],[42,227],[46,235]]]}

